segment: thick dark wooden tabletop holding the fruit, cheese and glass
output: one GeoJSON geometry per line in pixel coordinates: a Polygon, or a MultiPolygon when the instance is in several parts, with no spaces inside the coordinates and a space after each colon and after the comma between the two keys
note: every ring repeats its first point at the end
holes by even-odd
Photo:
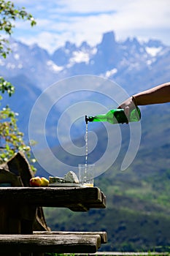
{"type": "Polygon", "coordinates": [[[72,211],[106,207],[106,197],[98,187],[1,187],[0,200],[1,203],[64,207],[72,211]]]}

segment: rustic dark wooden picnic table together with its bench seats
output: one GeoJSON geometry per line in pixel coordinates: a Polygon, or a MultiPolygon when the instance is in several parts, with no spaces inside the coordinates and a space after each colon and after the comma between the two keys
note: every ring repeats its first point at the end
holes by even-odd
{"type": "Polygon", "coordinates": [[[1,252],[3,255],[4,252],[12,252],[12,255],[14,252],[16,255],[21,255],[20,252],[24,255],[32,255],[32,252],[93,253],[101,243],[107,242],[105,232],[34,233],[30,226],[29,233],[23,234],[19,227],[23,212],[27,211],[28,218],[33,220],[38,206],[72,211],[105,208],[106,197],[98,187],[1,187],[0,201],[0,255],[1,252]],[[9,210],[8,217],[3,216],[4,208],[9,210]]]}

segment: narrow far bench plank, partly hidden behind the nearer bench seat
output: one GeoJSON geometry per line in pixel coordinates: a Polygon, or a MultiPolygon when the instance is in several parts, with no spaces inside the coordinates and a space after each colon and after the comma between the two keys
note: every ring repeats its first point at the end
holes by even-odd
{"type": "Polygon", "coordinates": [[[101,244],[107,243],[107,232],[105,231],[98,231],[98,232],[90,232],[90,231],[34,231],[35,235],[45,235],[45,236],[55,236],[55,235],[62,235],[62,236],[68,236],[68,235],[99,235],[101,237],[101,244]]]}

